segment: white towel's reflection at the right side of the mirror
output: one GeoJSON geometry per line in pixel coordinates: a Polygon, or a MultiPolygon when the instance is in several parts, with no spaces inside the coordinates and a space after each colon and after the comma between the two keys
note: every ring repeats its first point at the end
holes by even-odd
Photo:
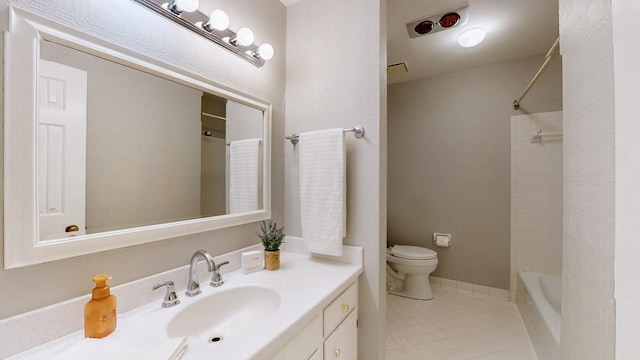
{"type": "Polygon", "coordinates": [[[232,141],[229,146],[229,212],[260,208],[261,139],[232,141]]]}

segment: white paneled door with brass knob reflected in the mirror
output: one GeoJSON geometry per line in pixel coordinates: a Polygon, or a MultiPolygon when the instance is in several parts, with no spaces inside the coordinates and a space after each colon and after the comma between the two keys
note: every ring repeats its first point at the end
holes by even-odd
{"type": "Polygon", "coordinates": [[[40,240],[85,234],[87,73],[40,60],[38,217],[40,240]]]}

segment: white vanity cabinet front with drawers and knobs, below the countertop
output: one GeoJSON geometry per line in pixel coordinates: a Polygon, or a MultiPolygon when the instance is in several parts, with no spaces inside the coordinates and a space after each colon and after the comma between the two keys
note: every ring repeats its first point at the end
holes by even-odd
{"type": "Polygon", "coordinates": [[[356,360],[358,282],[338,295],[272,360],[356,360]]]}

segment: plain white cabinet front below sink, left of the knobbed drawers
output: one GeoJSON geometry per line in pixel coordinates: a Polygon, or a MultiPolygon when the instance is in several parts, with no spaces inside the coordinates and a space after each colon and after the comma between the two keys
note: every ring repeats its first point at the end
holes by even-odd
{"type": "MultiPolygon", "coordinates": [[[[322,351],[322,318],[318,315],[271,360],[315,359],[322,351]]],[[[320,358],[322,359],[322,358],[320,358]]]]}

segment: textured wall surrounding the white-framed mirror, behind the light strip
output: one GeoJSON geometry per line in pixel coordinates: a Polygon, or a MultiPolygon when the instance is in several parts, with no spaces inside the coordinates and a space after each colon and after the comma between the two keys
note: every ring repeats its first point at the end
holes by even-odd
{"type": "MultiPolygon", "coordinates": [[[[8,19],[7,5],[28,9],[210,81],[268,100],[273,103],[274,139],[284,137],[286,9],[277,0],[230,1],[224,7],[232,19],[232,26],[236,26],[235,21],[244,20],[244,24],[254,30],[258,43],[268,41],[275,48],[275,57],[262,68],[254,67],[133,1],[2,0],[3,30],[8,19]]],[[[0,52],[4,53],[3,41],[0,52]]],[[[272,210],[276,219],[283,217],[283,146],[283,141],[275,141],[272,152],[272,210]]],[[[218,255],[255,244],[253,232],[256,228],[257,224],[249,224],[21,269],[0,270],[2,293],[10,294],[2,301],[0,319],[87,294],[92,287],[91,278],[99,273],[112,275],[111,283],[117,285],[184,266],[198,249],[218,255]]],[[[0,248],[3,243],[4,238],[0,248]]]]}

